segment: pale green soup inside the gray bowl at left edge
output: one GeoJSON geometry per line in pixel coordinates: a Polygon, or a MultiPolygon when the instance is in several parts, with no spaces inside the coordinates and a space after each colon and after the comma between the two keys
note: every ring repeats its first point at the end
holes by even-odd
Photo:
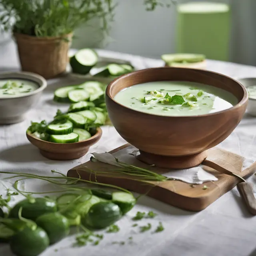
{"type": "Polygon", "coordinates": [[[24,94],[38,88],[38,84],[29,80],[0,80],[0,98],[24,96],[24,94]]]}

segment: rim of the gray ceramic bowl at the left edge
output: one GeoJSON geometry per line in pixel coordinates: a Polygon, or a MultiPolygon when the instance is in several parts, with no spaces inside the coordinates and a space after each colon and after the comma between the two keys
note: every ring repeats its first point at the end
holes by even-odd
{"type": "Polygon", "coordinates": [[[44,79],[42,76],[32,73],[32,72],[25,72],[25,71],[17,71],[17,72],[1,72],[0,73],[0,80],[12,80],[12,79],[20,79],[20,80],[27,80],[27,81],[32,81],[35,82],[39,85],[39,88],[32,92],[28,92],[25,95],[20,95],[20,96],[14,96],[14,97],[6,97],[6,98],[1,98],[0,100],[10,100],[10,99],[15,99],[15,98],[25,98],[34,94],[37,94],[38,92],[42,92],[47,86],[47,81],[44,79]],[[4,77],[2,77],[4,76],[4,77]],[[12,77],[8,77],[12,76],[12,77]]]}

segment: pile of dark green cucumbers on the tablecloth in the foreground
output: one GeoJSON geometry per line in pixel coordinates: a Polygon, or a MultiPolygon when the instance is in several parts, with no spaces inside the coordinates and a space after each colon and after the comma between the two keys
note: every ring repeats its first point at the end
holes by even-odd
{"type": "MultiPolygon", "coordinates": [[[[17,256],[38,256],[49,245],[68,236],[70,228],[84,230],[86,242],[100,242],[93,230],[107,228],[133,208],[130,193],[103,189],[70,190],[58,198],[28,197],[13,207],[0,208],[0,242],[9,243],[17,256]]],[[[79,236],[78,236],[79,237],[79,236]]],[[[86,242],[83,244],[85,245],[86,242]]]]}

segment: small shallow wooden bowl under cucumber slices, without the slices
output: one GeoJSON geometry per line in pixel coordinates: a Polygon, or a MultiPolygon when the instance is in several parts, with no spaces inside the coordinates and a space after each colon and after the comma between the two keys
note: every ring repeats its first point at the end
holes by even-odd
{"type": "Polygon", "coordinates": [[[40,140],[26,133],[28,140],[37,148],[39,148],[42,156],[51,160],[74,160],[84,156],[90,146],[94,145],[102,136],[102,130],[97,128],[97,133],[89,138],[75,143],[53,143],[40,140]]]}

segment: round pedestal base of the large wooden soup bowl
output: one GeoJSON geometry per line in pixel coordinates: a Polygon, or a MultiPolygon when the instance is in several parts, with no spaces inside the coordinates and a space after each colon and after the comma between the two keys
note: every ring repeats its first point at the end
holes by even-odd
{"type": "Polygon", "coordinates": [[[188,169],[201,164],[208,156],[207,150],[190,156],[160,156],[140,150],[136,158],[146,164],[167,169],[188,169]]]}

